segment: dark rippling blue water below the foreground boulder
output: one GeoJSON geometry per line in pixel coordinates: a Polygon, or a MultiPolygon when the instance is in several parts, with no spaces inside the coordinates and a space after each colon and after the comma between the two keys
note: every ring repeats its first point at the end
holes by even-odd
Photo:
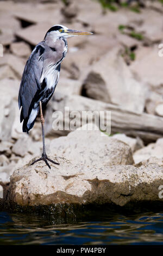
{"type": "Polygon", "coordinates": [[[103,212],[77,224],[0,212],[0,245],[163,245],[163,212],[126,216],[103,212]]]}

